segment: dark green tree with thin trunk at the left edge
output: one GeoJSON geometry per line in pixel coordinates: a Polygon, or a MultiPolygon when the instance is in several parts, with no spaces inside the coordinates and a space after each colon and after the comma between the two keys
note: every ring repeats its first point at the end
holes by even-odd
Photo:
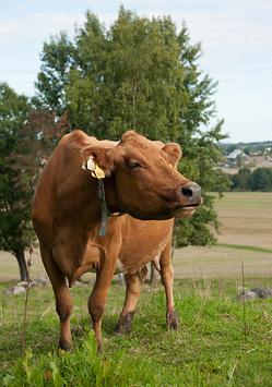
{"type": "Polygon", "coordinates": [[[17,170],[14,156],[22,143],[29,105],[23,95],[0,83],[0,249],[15,255],[22,280],[27,279],[24,251],[33,241],[28,193],[22,189],[27,176],[17,170]]]}

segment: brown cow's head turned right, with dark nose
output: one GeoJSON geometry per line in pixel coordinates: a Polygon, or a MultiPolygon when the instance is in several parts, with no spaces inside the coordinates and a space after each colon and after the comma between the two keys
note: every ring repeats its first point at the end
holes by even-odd
{"type": "Polygon", "coordinates": [[[184,218],[202,202],[200,186],[175,168],[181,157],[178,144],[128,131],[117,145],[87,146],[82,156],[105,174],[107,204],[115,210],[140,219],[184,218]]]}

